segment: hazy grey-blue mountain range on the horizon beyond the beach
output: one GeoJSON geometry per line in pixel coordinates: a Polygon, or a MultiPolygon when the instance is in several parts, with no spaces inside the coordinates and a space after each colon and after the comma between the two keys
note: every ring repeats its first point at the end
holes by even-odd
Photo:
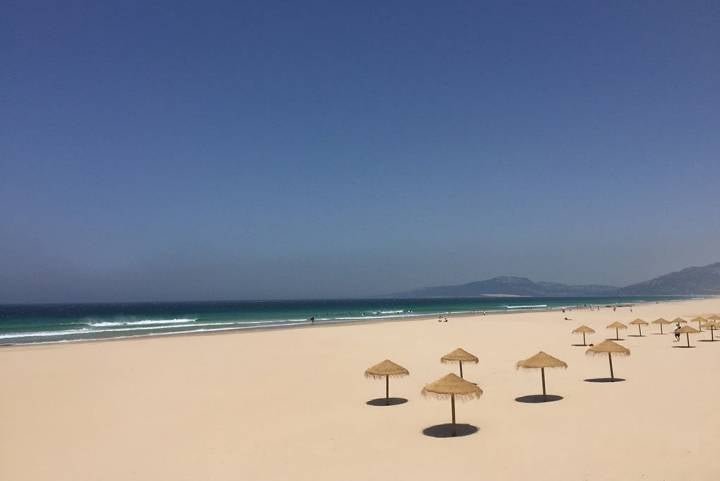
{"type": "Polygon", "coordinates": [[[535,282],[525,277],[500,276],[484,281],[435,286],[394,294],[394,297],[603,297],[603,296],[720,295],[720,262],[688,267],[626,287],[567,285],[535,282]]]}

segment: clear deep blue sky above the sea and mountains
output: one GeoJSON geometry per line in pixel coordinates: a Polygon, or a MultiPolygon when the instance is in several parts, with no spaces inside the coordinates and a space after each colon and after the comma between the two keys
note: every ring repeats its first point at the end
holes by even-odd
{"type": "Polygon", "coordinates": [[[0,5],[0,302],[720,261],[717,2],[0,5]]]}

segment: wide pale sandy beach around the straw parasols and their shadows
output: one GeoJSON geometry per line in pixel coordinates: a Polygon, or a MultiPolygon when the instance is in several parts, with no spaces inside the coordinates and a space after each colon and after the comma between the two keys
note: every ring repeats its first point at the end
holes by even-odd
{"type": "Polygon", "coordinates": [[[720,299],[2,348],[0,480],[717,480],[720,342],[631,326],[625,381],[594,383],[607,358],[571,334],[714,312],[720,299]],[[457,372],[440,363],[457,347],[480,358],[464,374],[484,395],[457,404],[478,431],[429,437],[450,406],[420,391],[457,372]],[[515,368],[539,350],[568,364],[547,371],[563,399],[517,402],[541,391],[515,368]],[[390,384],[408,402],[367,405],[385,386],[363,372],[386,358],[409,369],[390,384]]]}

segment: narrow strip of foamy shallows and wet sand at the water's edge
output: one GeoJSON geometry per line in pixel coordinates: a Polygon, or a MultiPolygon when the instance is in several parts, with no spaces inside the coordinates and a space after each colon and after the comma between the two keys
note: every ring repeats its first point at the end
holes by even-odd
{"type": "MultiPolygon", "coordinates": [[[[644,297],[651,297],[651,296],[644,296],[644,297]]],[[[383,323],[401,323],[401,322],[410,322],[410,321],[427,321],[431,319],[436,319],[438,316],[445,317],[448,319],[454,319],[454,320],[460,320],[465,318],[472,318],[472,317],[487,317],[487,316],[505,316],[505,315],[512,315],[512,314],[532,314],[532,313],[550,313],[555,311],[568,311],[568,312],[579,312],[579,311],[590,311],[590,307],[596,308],[594,311],[599,311],[601,309],[610,309],[610,308],[625,308],[625,307],[633,307],[633,306],[640,306],[640,305],[647,305],[647,304],[662,304],[662,303],[674,303],[674,302],[687,302],[687,301],[693,301],[693,300],[704,300],[704,299],[713,299],[713,298],[720,298],[720,296],[705,296],[705,297],[688,297],[683,299],[661,299],[661,300],[652,300],[649,299],[647,301],[640,301],[640,302],[634,302],[634,303],[617,303],[617,304],[608,304],[608,303],[600,303],[600,304],[586,304],[586,305],[569,305],[569,306],[563,306],[563,307],[545,307],[545,308],[506,308],[504,310],[495,309],[495,310],[479,310],[479,311],[461,311],[461,312],[448,312],[448,313],[432,313],[432,314],[418,314],[418,315],[405,315],[405,316],[388,316],[388,317],[376,317],[376,318],[357,318],[357,319],[336,319],[336,320],[326,320],[326,321],[316,321],[315,323],[311,323],[309,321],[302,322],[302,323],[296,323],[296,324],[279,324],[279,325],[266,325],[266,326],[241,326],[238,325],[237,327],[219,327],[217,329],[196,329],[196,330],[188,330],[188,331],[175,331],[175,332],[150,332],[147,334],[137,334],[137,335],[127,335],[127,336],[112,336],[112,337],[97,337],[97,338],[87,338],[87,339],[59,339],[59,340],[52,340],[52,341],[39,341],[39,342],[16,342],[16,343],[2,343],[0,342],[0,349],[8,349],[8,348],[17,348],[22,346],[48,346],[48,345],[67,345],[67,344],[86,344],[86,343],[96,343],[96,342],[108,342],[108,341],[133,341],[133,340],[142,340],[142,339],[156,339],[156,338],[167,338],[167,337],[185,337],[185,336],[208,336],[208,335],[222,335],[222,334],[241,334],[241,333],[249,333],[249,332],[274,332],[274,331],[286,331],[286,330],[297,330],[297,329],[307,329],[307,328],[313,328],[313,327],[337,327],[337,326],[347,326],[347,325],[370,325],[370,324],[383,324],[383,323]],[[587,306],[587,307],[585,307],[587,306]]],[[[542,299],[542,298],[533,298],[533,299],[542,299]]],[[[549,299],[557,299],[557,298],[549,298],[549,299]]],[[[598,298],[603,299],[603,298],[598,298]]],[[[28,336],[30,337],[30,336],[28,336]]]]}

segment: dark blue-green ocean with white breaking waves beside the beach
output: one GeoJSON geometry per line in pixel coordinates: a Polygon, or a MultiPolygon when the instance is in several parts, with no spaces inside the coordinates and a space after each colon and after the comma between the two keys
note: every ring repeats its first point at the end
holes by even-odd
{"type": "Polygon", "coordinates": [[[0,305],[0,345],[288,328],[458,313],[635,304],[677,297],[486,297],[0,305]],[[314,321],[310,319],[314,318],[314,321]]]}

